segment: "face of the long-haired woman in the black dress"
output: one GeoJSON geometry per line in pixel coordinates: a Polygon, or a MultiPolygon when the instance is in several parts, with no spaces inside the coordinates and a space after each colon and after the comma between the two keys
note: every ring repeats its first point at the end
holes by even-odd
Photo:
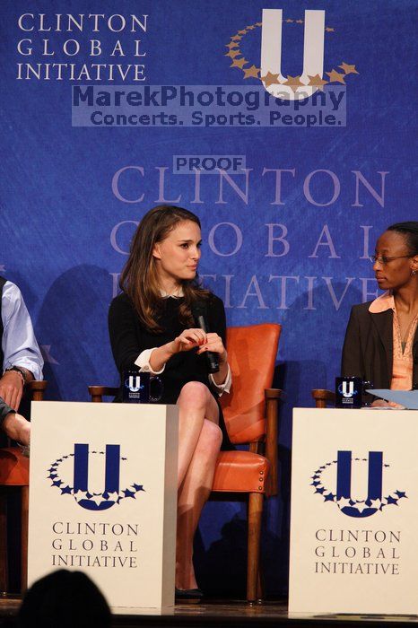
{"type": "Polygon", "coordinates": [[[196,222],[179,222],[152,251],[161,283],[179,284],[196,277],[202,237],[196,222]]]}

